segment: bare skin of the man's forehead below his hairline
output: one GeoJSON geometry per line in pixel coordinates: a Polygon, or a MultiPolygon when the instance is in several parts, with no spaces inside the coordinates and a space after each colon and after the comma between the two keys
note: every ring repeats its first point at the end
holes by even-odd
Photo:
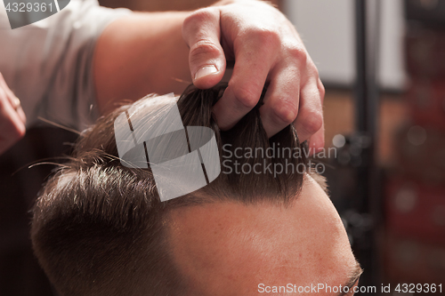
{"type": "MultiPolygon", "coordinates": [[[[173,210],[168,220],[173,260],[190,295],[258,295],[258,284],[344,286],[357,269],[334,205],[307,176],[287,208],[218,202],[173,210]]],[[[295,294],[302,293],[273,293],[295,294]]],[[[315,294],[338,295],[303,293],[315,294]]]]}

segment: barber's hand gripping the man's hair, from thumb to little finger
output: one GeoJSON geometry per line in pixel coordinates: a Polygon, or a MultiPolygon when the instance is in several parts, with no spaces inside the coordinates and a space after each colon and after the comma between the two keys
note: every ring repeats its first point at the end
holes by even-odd
{"type": "MultiPolygon", "coordinates": [[[[219,4],[226,4],[227,1],[219,4]]],[[[193,84],[210,88],[223,78],[226,59],[235,60],[229,87],[214,106],[227,130],[254,108],[270,83],[260,108],[269,137],[295,124],[299,140],[323,148],[324,87],[294,26],[270,4],[242,1],[192,13],[182,36],[190,47],[193,84]]]]}

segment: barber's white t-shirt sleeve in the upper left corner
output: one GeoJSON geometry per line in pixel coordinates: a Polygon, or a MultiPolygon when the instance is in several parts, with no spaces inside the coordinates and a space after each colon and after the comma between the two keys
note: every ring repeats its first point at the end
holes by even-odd
{"type": "Polygon", "coordinates": [[[38,116],[78,131],[94,123],[94,47],[112,20],[129,13],[71,0],[47,19],[11,29],[0,4],[0,72],[21,100],[27,126],[38,116]]]}

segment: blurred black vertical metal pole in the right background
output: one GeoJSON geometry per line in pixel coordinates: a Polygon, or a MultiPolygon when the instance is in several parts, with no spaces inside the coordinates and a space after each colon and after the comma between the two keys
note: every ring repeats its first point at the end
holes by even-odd
{"type": "MultiPolygon", "coordinates": [[[[376,171],[376,118],[377,118],[377,86],[376,86],[376,52],[369,51],[367,28],[367,2],[355,0],[355,38],[356,38],[356,84],[355,84],[355,121],[356,133],[353,144],[361,148],[360,165],[357,167],[357,190],[354,201],[355,211],[360,214],[367,227],[355,229],[352,247],[365,272],[361,276],[360,285],[376,286],[373,294],[379,293],[377,282],[377,264],[375,231],[378,209],[378,179],[376,171]],[[370,225],[369,225],[370,224],[370,225]]],[[[377,6],[378,8],[378,6],[377,6]]],[[[378,14],[377,14],[378,15],[378,14]]],[[[376,19],[377,25],[378,20],[376,19]]],[[[377,28],[377,27],[376,27],[377,28]]],[[[377,31],[374,32],[377,36],[377,31]]],[[[375,38],[376,39],[376,38],[375,38]]],[[[373,40],[377,42],[377,40],[373,40]]],[[[376,50],[376,48],[374,48],[376,50]]]]}

